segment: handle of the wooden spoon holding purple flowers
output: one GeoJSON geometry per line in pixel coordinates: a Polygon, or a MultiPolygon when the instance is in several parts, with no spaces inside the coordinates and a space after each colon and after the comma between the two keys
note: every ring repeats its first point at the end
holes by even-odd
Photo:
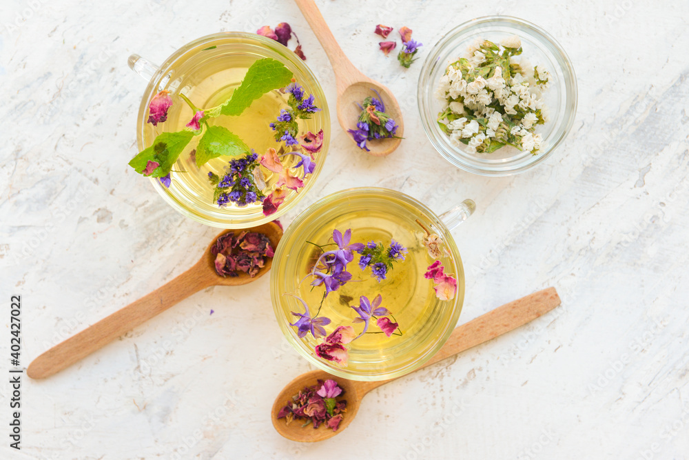
{"type": "Polygon", "coordinates": [[[306,18],[311,30],[316,34],[316,38],[320,41],[321,46],[328,55],[330,63],[333,66],[335,77],[337,79],[338,92],[342,92],[351,83],[356,81],[367,80],[367,77],[359,72],[354,65],[347,59],[345,52],[338,45],[333,32],[328,28],[323,15],[320,14],[318,6],[313,0],[294,0],[306,18]]]}

